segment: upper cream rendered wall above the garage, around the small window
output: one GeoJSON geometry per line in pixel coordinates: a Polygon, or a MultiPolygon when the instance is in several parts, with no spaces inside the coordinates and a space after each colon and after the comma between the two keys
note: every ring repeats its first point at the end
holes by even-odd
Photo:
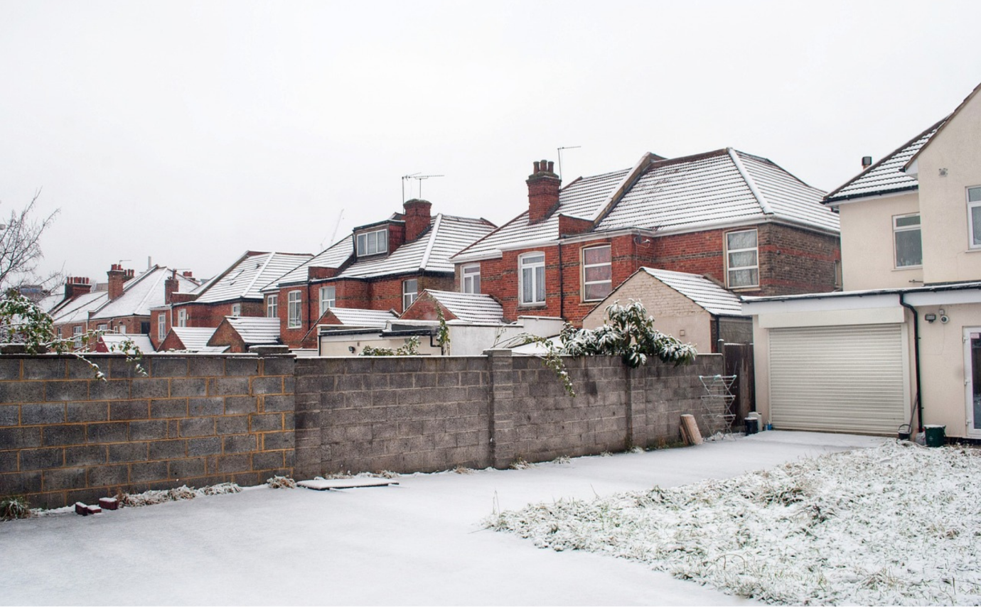
{"type": "MultiPolygon", "coordinates": [[[[893,217],[917,211],[915,191],[841,203],[842,281],[846,291],[920,285],[909,281],[923,281],[923,269],[897,269],[893,245],[893,217]]],[[[925,243],[925,231],[921,235],[925,243]]]]}

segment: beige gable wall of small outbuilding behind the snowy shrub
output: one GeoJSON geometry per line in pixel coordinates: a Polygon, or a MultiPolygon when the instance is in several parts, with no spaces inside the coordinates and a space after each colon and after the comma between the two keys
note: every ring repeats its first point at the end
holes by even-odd
{"type": "Polygon", "coordinates": [[[602,326],[606,307],[619,300],[627,304],[637,300],[647,315],[654,318],[654,328],[696,346],[700,353],[712,350],[712,316],[678,291],[640,272],[624,281],[583,320],[583,328],[602,326]],[[684,331],[684,334],[682,333],[684,331]]]}

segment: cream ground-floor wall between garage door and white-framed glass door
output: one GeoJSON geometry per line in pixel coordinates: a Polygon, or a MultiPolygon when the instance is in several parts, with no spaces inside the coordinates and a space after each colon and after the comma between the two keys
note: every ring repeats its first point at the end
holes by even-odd
{"type": "Polygon", "coordinates": [[[981,305],[956,304],[917,307],[920,313],[920,376],[923,383],[923,421],[943,424],[948,436],[965,436],[967,401],[964,381],[964,328],[981,327],[981,305]],[[944,309],[950,322],[940,322],[944,309]],[[927,313],[938,315],[933,324],[927,313]]]}

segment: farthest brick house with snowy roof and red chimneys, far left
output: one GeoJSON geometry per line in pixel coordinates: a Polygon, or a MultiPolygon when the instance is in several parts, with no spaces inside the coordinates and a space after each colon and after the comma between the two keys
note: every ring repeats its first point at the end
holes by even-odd
{"type": "Polygon", "coordinates": [[[107,288],[100,291],[92,291],[88,278],[68,278],[65,299],[50,313],[57,333],[63,337],[94,330],[148,333],[152,305],[164,304],[175,293],[191,292],[199,285],[190,273],[161,266],[137,276],[114,264],[108,277],[107,288]]]}

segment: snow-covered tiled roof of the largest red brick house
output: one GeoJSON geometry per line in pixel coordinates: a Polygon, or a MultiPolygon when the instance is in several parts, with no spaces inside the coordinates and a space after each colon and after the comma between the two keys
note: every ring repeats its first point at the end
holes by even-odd
{"type": "Polygon", "coordinates": [[[822,196],[770,160],[732,148],[668,160],[645,154],[633,169],[573,181],[547,219],[529,224],[526,211],[453,261],[557,240],[559,215],[591,221],[596,232],[678,232],[764,220],[837,232],[838,216],[821,204],[822,196]]]}

